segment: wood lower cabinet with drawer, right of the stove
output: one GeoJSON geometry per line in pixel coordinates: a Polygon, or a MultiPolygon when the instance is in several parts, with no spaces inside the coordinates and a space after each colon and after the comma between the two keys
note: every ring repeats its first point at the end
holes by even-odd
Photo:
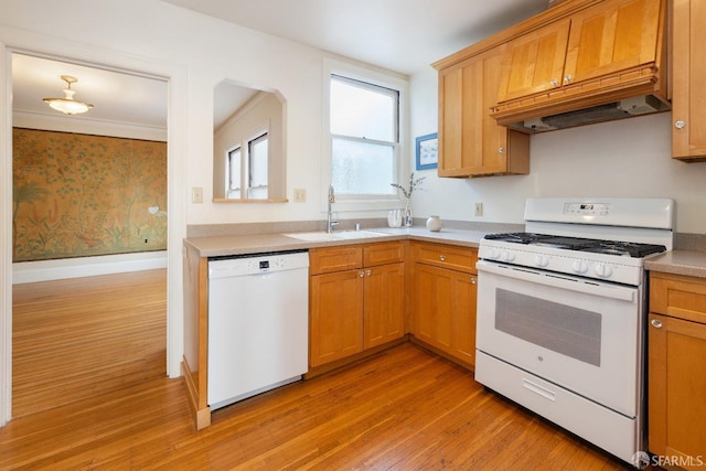
{"type": "Polygon", "coordinates": [[[704,469],[706,280],[650,274],[648,319],[649,449],[704,469]]]}

